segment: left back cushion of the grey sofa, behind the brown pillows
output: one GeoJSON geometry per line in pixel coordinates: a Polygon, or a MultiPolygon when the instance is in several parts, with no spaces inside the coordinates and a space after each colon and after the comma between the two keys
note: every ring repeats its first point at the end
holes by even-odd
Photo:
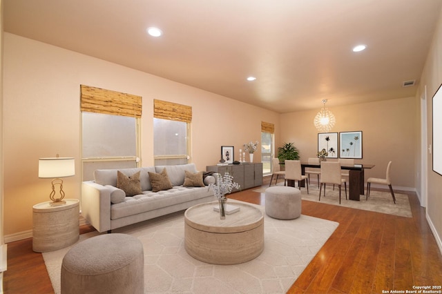
{"type": "Polygon", "coordinates": [[[151,182],[149,181],[148,172],[155,173],[154,166],[148,166],[144,168],[119,168],[119,169],[108,169],[108,170],[95,170],[94,179],[95,183],[106,186],[117,186],[117,170],[124,173],[124,175],[133,175],[137,171],[141,171],[140,182],[141,189],[151,190],[151,182]]]}

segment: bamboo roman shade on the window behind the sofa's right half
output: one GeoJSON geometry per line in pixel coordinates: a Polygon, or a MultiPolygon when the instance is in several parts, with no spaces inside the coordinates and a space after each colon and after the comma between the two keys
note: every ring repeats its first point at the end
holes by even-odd
{"type": "Polygon", "coordinates": [[[192,121],[192,106],[153,99],[153,117],[171,121],[192,121]]]}

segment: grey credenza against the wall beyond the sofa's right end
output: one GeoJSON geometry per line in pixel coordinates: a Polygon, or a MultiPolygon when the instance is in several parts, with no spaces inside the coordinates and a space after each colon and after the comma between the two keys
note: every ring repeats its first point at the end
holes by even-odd
{"type": "Polygon", "coordinates": [[[233,176],[233,182],[238,183],[242,190],[262,186],[262,163],[244,162],[242,164],[229,164],[228,166],[206,166],[206,170],[221,175],[229,173],[233,176]]]}

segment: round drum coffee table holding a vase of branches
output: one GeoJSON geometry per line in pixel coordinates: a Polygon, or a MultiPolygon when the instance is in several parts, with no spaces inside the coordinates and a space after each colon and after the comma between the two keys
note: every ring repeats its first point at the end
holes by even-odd
{"type": "Polygon", "coordinates": [[[209,264],[240,264],[264,250],[264,216],[260,209],[242,202],[229,202],[240,211],[220,219],[213,210],[218,202],[192,206],[184,213],[187,253],[209,264]]]}

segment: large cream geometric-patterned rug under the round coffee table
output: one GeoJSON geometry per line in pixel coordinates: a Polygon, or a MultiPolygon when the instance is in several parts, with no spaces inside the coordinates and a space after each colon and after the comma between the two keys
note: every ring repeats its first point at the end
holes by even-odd
{"type": "MultiPolygon", "coordinates": [[[[256,206],[264,213],[264,206],[256,206]]],[[[145,293],[286,293],[338,225],[307,215],[292,220],[265,215],[264,251],[250,262],[228,266],[206,264],[186,253],[182,211],[113,233],[143,243],[145,293]]],[[[81,235],[79,242],[95,235],[81,235]]],[[[43,253],[55,293],[60,293],[61,262],[68,250],[43,253]]]]}

